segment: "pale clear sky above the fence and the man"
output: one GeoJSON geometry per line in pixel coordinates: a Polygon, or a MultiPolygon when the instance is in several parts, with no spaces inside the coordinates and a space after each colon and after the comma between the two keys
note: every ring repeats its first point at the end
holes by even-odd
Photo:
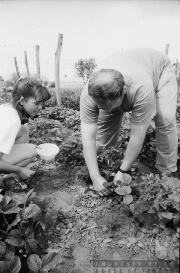
{"type": "Polygon", "coordinates": [[[20,71],[27,51],[35,69],[35,45],[40,65],[54,77],[58,34],[63,34],[60,74],[74,77],[78,58],[97,63],[114,51],[150,47],[180,61],[180,2],[177,0],[0,0],[0,75],[20,71]],[[16,55],[16,56],[15,56],[16,55]]]}

